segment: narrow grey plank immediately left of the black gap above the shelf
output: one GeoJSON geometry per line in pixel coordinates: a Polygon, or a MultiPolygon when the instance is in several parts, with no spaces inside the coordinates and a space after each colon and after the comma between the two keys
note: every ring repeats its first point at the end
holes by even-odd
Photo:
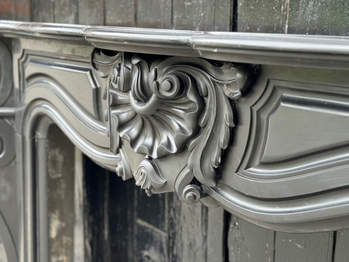
{"type": "Polygon", "coordinates": [[[232,19],[232,0],[215,1],[215,17],[213,31],[229,32],[232,19]]]}

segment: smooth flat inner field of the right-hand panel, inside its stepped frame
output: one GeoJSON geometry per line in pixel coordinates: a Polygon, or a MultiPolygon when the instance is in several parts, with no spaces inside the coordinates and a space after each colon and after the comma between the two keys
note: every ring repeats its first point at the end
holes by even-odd
{"type": "MultiPolygon", "coordinates": [[[[268,117],[261,163],[287,162],[331,151],[349,143],[349,97],[282,88],[280,103],[268,117]]],[[[276,87],[277,88],[277,87],[276,87]]]]}

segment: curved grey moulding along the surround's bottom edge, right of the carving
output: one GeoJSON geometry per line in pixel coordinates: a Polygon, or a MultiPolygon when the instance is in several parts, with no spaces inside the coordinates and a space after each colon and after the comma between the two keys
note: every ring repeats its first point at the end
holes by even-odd
{"type": "Polygon", "coordinates": [[[340,230],[348,227],[349,216],[346,212],[348,206],[347,189],[330,192],[321,196],[321,199],[304,197],[300,200],[280,200],[275,202],[251,199],[220,182],[215,188],[204,186],[204,189],[224,209],[247,221],[272,230],[309,233],[340,230]],[[340,198],[338,199],[337,197],[339,196],[340,198]],[[310,200],[309,204],[308,200],[310,200]],[[321,203],[321,201],[324,202],[321,203]],[[338,205],[338,203],[340,204],[338,205]],[[333,213],[324,212],[327,209],[333,213]]]}

